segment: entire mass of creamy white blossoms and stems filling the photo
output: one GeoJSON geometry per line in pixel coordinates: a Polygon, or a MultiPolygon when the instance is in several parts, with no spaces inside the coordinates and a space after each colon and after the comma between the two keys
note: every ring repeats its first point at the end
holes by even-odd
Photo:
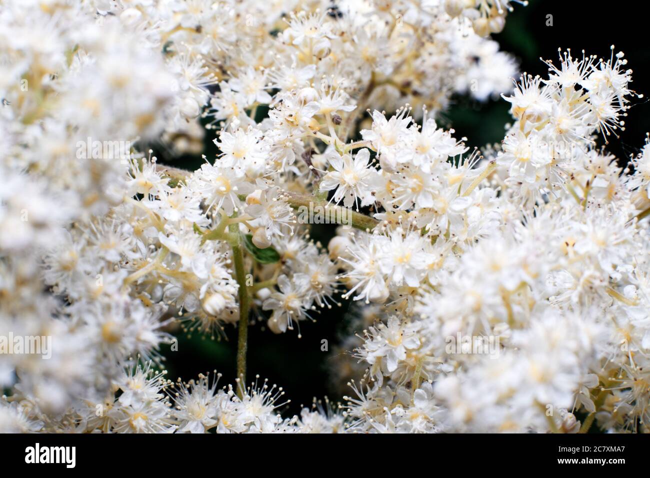
{"type": "Polygon", "coordinates": [[[631,71],[512,89],[512,3],[0,0],[0,432],[647,431],[650,146],[597,146],[631,71]],[[439,126],[461,94],[512,105],[500,146],[439,126]],[[350,396],[283,417],[246,330],[345,299],[350,396]],[[236,330],[234,384],[165,378],[236,330]]]}

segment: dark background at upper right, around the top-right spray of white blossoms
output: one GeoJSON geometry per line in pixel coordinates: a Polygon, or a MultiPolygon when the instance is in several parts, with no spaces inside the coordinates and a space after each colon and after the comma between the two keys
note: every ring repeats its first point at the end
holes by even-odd
{"type": "MultiPolygon", "coordinates": [[[[610,58],[623,51],[632,70],[630,87],[644,98],[630,98],[632,107],[625,118],[625,131],[620,139],[610,137],[607,150],[619,159],[636,155],[645,144],[645,133],[650,129],[650,49],[647,32],[650,5],[645,1],[618,2],[586,0],[530,0],[528,7],[514,5],[514,12],[506,18],[502,33],[493,35],[500,49],[519,60],[520,71],[545,77],[548,67],[539,59],[553,60],[558,65],[558,48],[571,49],[574,58],[597,55],[610,58]],[[547,15],[552,15],[553,26],[547,27],[547,15]]],[[[465,136],[471,146],[482,146],[503,139],[503,125],[511,121],[506,101],[487,105],[471,103],[459,98],[456,107],[448,112],[456,137],[465,136]]]]}

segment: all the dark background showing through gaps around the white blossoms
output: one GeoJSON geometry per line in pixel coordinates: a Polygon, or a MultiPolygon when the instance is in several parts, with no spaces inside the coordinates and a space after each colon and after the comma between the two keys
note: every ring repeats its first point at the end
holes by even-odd
{"type": "MultiPolygon", "coordinates": [[[[504,31],[493,38],[499,42],[502,51],[512,53],[521,65],[521,72],[544,76],[547,66],[539,59],[552,59],[557,63],[558,47],[571,48],[574,57],[587,55],[610,57],[610,45],[615,52],[624,51],[629,61],[627,68],[634,72],[632,89],[638,93],[650,94],[650,51],[647,47],[647,19],[650,7],[645,2],[623,0],[617,3],[577,0],[531,0],[528,7],[515,5],[515,11],[508,15],[504,31]],[[547,26],[547,15],[552,15],[552,26],[547,26]]],[[[626,131],[619,132],[620,139],[610,138],[608,151],[621,162],[630,154],[636,154],[645,142],[645,133],[650,129],[650,107],[645,98],[632,100],[626,119],[626,131]]],[[[504,136],[504,125],[511,121],[506,101],[477,103],[467,98],[456,98],[452,109],[441,118],[445,127],[453,126],[456,137],[467,137],[468,146],[500,142],[504,136]]],[[[213,132],[208,131],[205,155],[213,159],[213,132]]],[[[181,168],[196,168],[200,157],[172,158],[164,151],[156,151],[162,163],[181,168]]],[[[322,227],[322,226],[321,226],[322,227]]],[[[331,230],[313,230],[313,236],[327,243],[331,230]]],[[[333,401],[341,400],[340,388],[331,384],[328,365],[337,360],[335,351],[339,333],[349,323],[346,318],[349,302],[339,297],[343,307],[334,308],[317,316],[317,323],[301,323],[302,338],[297,331],[276,336],[262,330],[260,324],[250,327],[248,336],[248,382],[255,374],[268,378],[271,384],[283,386],[292,403],[287,413],[300,411],[300,405],[311,403],[313,397],[329,395],[333,401]],[[329,351],[320,351],[320,341],[327,339],[329,351]]],[[[253,311],[253,315],[255,315],[253,311]]],[[[360,331],[358,331],[360,332],[360,331]]],[[[220,384],[234,383],[237,330],[226,327],[227,340],[213,341],[196,334],[187,338],[179,333],[179,351],[169,352],[166,368],[168,378],[184,380],[196,378],[199,373],[217,369],[224,375],[220,384]]]]}

